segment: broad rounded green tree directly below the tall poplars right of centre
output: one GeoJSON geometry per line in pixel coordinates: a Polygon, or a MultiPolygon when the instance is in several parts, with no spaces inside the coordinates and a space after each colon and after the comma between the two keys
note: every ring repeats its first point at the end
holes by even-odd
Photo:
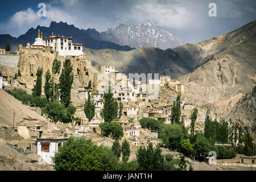
{"type": "Polygon", "coordinates": [[[163,144],[165,144],[166,147],[176,150],[181,147],[181,140],[184,138],[184,133],[180,125],[164,124],[159,138],[162,139],[163,144]]]}

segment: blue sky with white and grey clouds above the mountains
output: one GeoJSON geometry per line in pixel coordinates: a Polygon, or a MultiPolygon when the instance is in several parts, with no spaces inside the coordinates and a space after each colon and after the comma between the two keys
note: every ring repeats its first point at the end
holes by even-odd
{"type": "Polygon", "coordinates": [[[118,24],[150,22],[187,43],[222,35],[256,20],[255,0],[33,0],[1,1],[0,34],[18,37],[51,21],[106,31],[118,24]],[[39,16],[45,3],[46,16],[39,16]],[[216,15],[209,16],[210,3],[216,15]]]}

